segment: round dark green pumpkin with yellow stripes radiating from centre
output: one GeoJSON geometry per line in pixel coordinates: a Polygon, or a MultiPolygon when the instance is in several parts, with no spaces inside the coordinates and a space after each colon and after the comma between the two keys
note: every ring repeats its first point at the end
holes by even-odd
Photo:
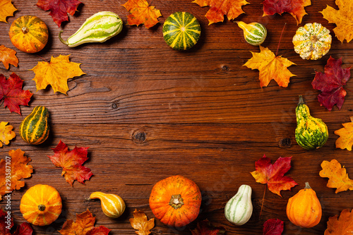
{"type": "Polygon", "coordinates": [[[191,13],[175,12],[163,24],[163,37],[169,47],[187,50],[193,47],[201,35],[201,26],[191,13]]]}

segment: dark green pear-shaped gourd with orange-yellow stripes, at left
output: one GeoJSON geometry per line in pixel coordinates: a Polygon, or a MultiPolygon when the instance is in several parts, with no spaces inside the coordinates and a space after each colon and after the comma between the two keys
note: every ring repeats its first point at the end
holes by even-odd
{"type": "Polygon", "coordinates": [[[49,136],[49,112],[44,106],[35,107],[20,123],[20,136],[25,142],[39,145],[49,136]]]}

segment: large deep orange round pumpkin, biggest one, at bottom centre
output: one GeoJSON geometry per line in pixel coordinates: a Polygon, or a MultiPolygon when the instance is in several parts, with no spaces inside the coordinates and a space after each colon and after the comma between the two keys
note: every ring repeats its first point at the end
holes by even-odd
{"type": "Polygon", "coordinates": [[[183,176],[170,176],[155,184],[150,194],[150,208],[160,222],[184,227],[198,217],[201,192],[196,183],[183,176]]]}

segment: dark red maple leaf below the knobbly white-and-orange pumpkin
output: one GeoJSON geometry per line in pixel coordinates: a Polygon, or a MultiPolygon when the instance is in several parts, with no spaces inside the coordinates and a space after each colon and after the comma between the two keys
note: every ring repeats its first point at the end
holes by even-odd
{"type": "Polygon", "coordinates": [[[333,109],[335,104],[338,109],[341,109],[347,95],[343,86],[346,85],[351,76],[351,67],[341,68],[341,66],[342,59],[334,59],[330,56],[328,63],[325,65],[325,73],[316,72],[311,83],[313,89],[321,90],[321,94],[318,95],[318,102],[329,111],[333,109]]]}

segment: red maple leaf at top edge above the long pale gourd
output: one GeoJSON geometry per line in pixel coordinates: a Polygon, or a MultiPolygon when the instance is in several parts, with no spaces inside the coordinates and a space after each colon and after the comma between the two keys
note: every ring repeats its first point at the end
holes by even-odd
{"type": "Polygon", "coordinates": [[[60,27],[61,22],[68,21],[67,13],[73,16],[80,4],[81,2],[78,0],[38,0],[36,5],[44,11],[50,10],[49,15],[60,27]]]}

